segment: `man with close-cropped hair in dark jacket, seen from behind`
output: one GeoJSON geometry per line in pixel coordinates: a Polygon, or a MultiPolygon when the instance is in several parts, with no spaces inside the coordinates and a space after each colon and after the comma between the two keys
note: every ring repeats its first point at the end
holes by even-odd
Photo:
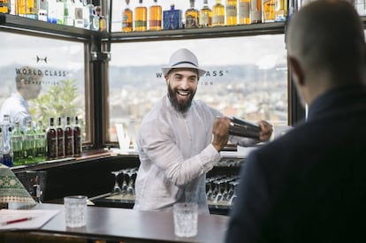
{"type": "Polygon", "coordinates": [[[366,242],[362,23],[346,1],[311,2],[287,41],[308,118],[248,156],[225,241],[366,242]]]}

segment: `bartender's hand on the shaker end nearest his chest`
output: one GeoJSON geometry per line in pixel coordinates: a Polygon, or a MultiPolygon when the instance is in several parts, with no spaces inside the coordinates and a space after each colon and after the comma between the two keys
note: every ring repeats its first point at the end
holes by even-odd
{"type": "Polygon", "coordinates": [[[225,147],[229,140],[229,118],[216,118],[212,128],[213,140],[212,145],[216,148],[217,152],[221,151],[225,147]]]}

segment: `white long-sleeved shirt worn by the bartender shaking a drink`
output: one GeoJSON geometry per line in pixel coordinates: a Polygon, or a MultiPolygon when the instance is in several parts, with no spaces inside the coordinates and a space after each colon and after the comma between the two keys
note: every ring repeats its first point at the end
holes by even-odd
{"type": "MultiPolygon", "coordinates": [[[[185,114],[174,110],[167,96],[156,103],[142,119],[137,139],[141,165],[134,209],[172,210],[174,203],[186,201],[209,213],[205,178],[220,160],[211,144],[217,116],[222,114],[197,100],[185,114]]],[[[235,138],[240,145],[257,142],[235,138]]]]}

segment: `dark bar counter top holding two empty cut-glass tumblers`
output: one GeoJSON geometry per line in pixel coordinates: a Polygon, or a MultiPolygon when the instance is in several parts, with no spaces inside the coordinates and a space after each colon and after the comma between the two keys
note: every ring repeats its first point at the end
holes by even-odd
{"type": "Polygon", "coordinates": [[[199,215],[194,238],[174,236],[172,212],[88,206],[87,225],[65,226],[64,206],[37,204],[32,209],[59,209],[41,229],[0,232],[0,242],[224,242],[227,216],[199,215]]]}

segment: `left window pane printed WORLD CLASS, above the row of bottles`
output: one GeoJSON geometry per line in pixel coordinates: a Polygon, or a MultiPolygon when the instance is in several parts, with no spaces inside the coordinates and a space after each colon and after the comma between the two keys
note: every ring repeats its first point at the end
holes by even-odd
{"type": "MultiPolygon", "coordinates": [[[[83,140],[86,133],[86,81],[84,42],[51,39],[36,35],[0,32],[2,57],[0,69],[0,112],[23,110],[27,107],[34,125],[42,121],[46,127],[51,117],[79,118],[83,140]],[[24,82],[21,87],[17,77],[24,82]],[[20,92],[19,89],[22,89],[20,92]],[[20,103],[5,103],[15,95],[20,103]]],[[[12,113],[13,118],[18,116],[12,113]]],[[[0,118],[1,119],[1,118],[0,118]]]]}

